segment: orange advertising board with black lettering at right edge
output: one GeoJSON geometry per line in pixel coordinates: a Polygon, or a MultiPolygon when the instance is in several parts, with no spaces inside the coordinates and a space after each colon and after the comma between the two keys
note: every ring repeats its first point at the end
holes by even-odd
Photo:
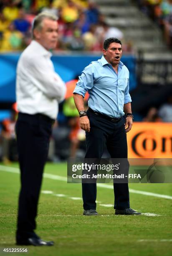
{"type": "Polygon", "coordinates": [[[134,122],[127,143],[129,158],[172,158],[172,123],[134,122]]]}

